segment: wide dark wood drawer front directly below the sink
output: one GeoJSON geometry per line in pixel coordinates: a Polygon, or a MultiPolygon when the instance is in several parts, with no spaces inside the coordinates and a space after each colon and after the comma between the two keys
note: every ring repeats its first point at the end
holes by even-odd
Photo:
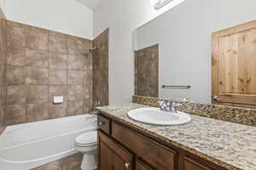
{"type": "Polygon", "coordinates": [[[136,153],[143,161],[148,162],[150,167],[159,170],[176,169],[176,151],[170,150],[116,122],[112,123],[112,136],[136,153]]]}

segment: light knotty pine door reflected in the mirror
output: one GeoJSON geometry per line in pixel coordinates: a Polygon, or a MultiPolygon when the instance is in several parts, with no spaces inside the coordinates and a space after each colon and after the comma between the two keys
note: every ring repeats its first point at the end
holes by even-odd
{"type": "Polygon", "coordinates": [[[212,33],[212,103],[256,107],[256,21],[212,33]]]}

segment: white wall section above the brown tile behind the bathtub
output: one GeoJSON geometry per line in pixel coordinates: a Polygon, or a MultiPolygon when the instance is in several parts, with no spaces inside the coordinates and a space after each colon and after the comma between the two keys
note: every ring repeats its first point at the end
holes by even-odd
{"type": "Polygon", "coordinates": [[[8,20],[93,38],[93,14],[76,0],[0,0],[8,20]],[[1,2],[2,1],[2,2],[1,2]]]}

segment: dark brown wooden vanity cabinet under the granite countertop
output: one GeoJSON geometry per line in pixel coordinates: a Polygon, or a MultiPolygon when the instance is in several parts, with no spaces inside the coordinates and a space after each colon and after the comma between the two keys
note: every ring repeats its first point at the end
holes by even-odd
{"type": "Polygon", "coordinates": [[[105,122],[98,129],[98,170],[227,170],[114,118],[98,120],[105,122]]]}

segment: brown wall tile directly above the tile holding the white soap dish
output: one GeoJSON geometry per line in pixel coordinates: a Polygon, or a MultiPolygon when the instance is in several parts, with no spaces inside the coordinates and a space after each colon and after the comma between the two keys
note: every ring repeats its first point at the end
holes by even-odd
{"type": "Polygon", "coordinates": [[[49,85],[67,85],[67,70],[49,69],[49,85]]]}

